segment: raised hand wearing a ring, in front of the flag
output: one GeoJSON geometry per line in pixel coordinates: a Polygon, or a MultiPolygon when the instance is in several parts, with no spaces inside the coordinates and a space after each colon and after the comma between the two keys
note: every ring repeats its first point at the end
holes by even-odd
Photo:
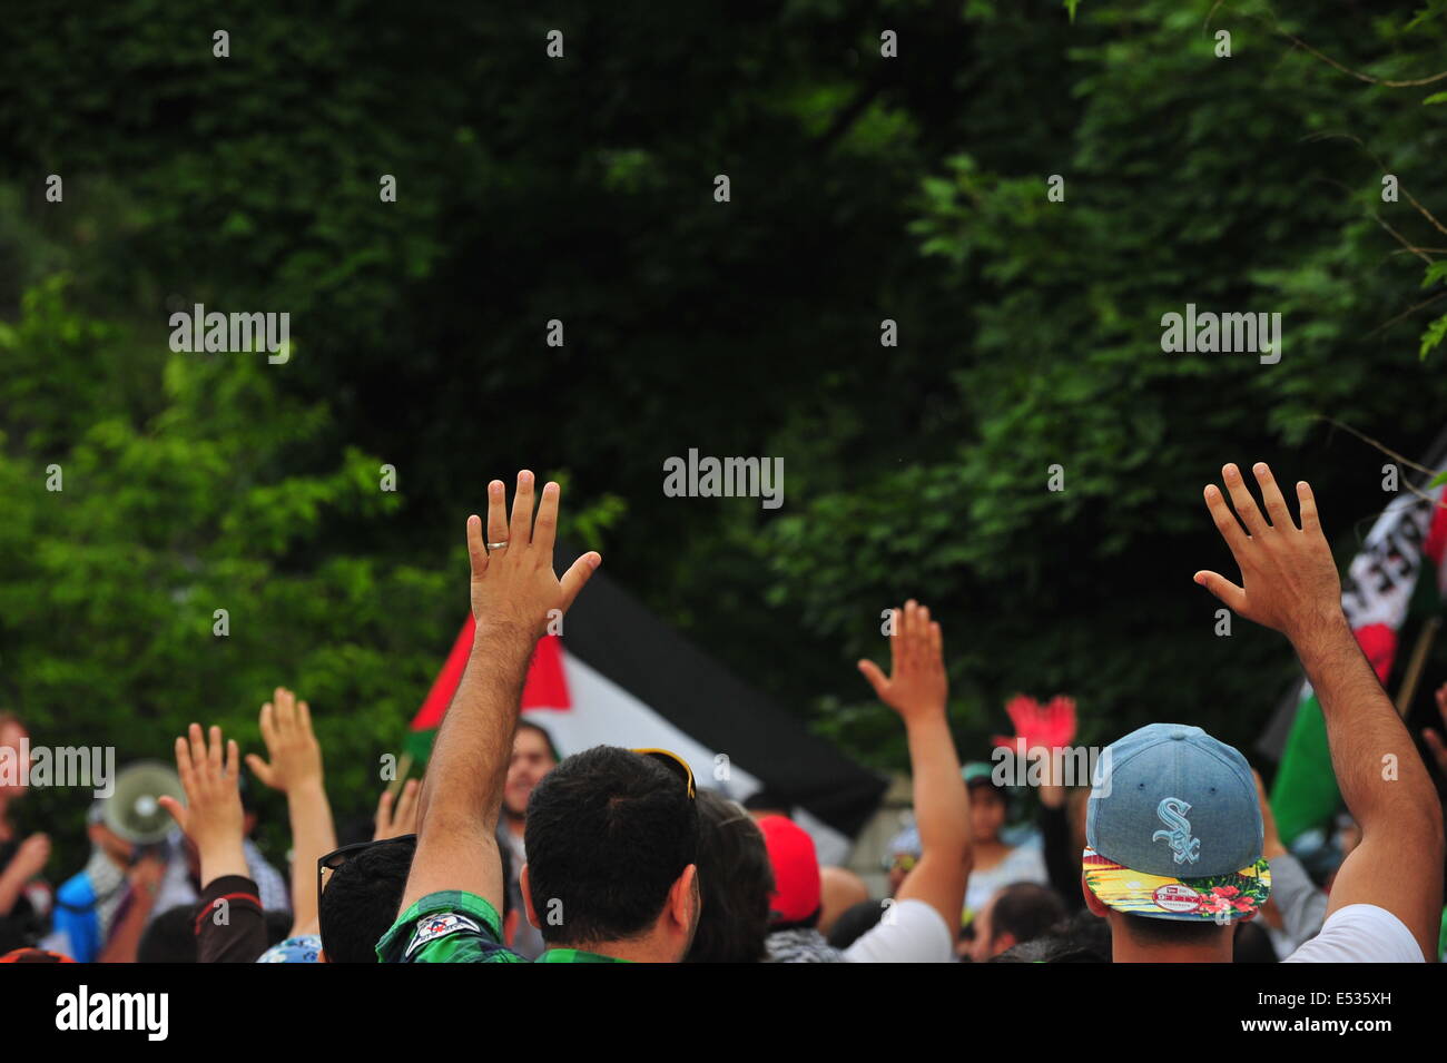
{"type": "Polygon", "coordinates": [[[479,631],[518,632],[535,642],[547,628],[550,613],[567,612],[593,570],[603,558],[583,554],[563,579],[553,571],[553,539],[557,535],[556,483],[543,487],[543,500],[532,519],[532,473],[518,473],[512,499],[512,522],[506,519],[502,480],[488,484],[488,535],[482,521],[467,518],[467,554],[472,558],[472,615],[479,631]],[[489,550],[488,544],[492,544],[489,550]],[[502,544],[502,545],[498,545],[502,544]]]}

